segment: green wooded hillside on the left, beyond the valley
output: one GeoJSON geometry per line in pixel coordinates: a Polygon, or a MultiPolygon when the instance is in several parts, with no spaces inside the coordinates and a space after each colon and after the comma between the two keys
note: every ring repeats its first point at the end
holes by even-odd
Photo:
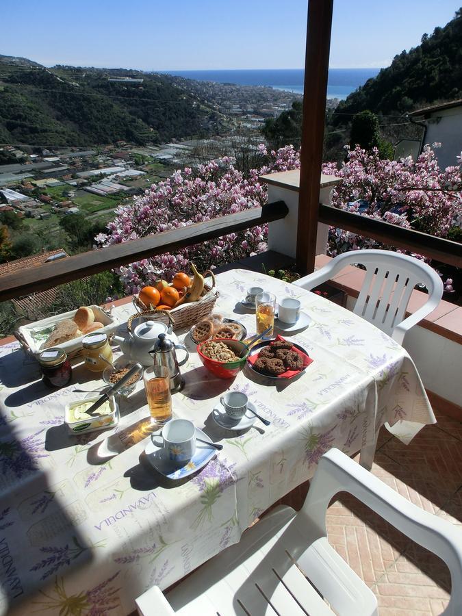
{"type": "Polygon", "coordinates": [[[0,143],[89,146],[207,136],[222,116],[167,75],[0,56],[0,143]],[[142,84],[109,81],[143,79],[142,84]]]}

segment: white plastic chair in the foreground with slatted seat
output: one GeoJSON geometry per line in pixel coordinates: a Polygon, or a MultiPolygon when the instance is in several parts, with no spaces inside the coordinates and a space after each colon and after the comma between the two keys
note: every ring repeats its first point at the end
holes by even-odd
{"type": "Polygon", "coordinates": [[[374,594],[326,538],[326,510],[339,491],[352,493],[446,561],[452,595],[444,615],[462,614],[462,532],[412,504],[337,449],[320,459],[298,513],[277,507],[246,531],[240,543],[197,569],[166,597],[159,587],[146,591],[136,600],[138,612],[142,616],[332,615],[324,597],[342,616],[376,615],[374,594]]]}

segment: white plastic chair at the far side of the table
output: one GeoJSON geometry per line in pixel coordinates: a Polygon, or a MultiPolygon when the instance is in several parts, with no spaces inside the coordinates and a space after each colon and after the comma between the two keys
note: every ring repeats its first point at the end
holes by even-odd
{"type": "Polygon", "coordinates": [[[331,279],[347,265],[361,264],[366,273],[353,312],[373,323],[402,344],[406,332],[431,313],[443,295],[443,283],[437,272],[423,261],[391,251],[352,251],[338,255],[313,274],[294,285],[311,290],[331,279]],[[411,316],[405,317],[415,285],[428,291],[426,303],[411,316]]]}

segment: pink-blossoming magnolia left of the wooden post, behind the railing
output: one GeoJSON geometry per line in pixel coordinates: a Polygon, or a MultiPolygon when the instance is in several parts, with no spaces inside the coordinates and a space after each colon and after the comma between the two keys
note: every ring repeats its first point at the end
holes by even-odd
{"type": "MultiPolygon", "coordinates": [[[[300,157],[292,146],[268,153],[261,145],[259,151],[262,166],[251,170],[247,177],[235,168],[229,157],[198,166],[195,172],[188,167],[175,171],[166,181],[153,184],[144,195],[118,207],[116,218],[107,224],[108,232],[95,238],[97,244],[118,244],[264,205],[266,185],[259,183],[258,176],[297,168],[300,157]]],[[[143,259],[117,271],[125,292],[134,294],[159,276],[170,280],[175,272],[188,270],[189,261],[194,261],[199,269],[206,269],[265,251],[267,235],[266,225],[253,227],[223,235],[218,240],[193,244],[175,254],[143,259]]]]}

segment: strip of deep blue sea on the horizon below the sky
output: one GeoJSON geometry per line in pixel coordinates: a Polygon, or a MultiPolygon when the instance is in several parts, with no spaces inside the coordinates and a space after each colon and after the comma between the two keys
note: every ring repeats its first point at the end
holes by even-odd
{"type": "MultiPolygon", "coordinates": [[[[329,68],[327,98],[344,100],[348,94],[376,77],[380,68],[329,68]]],[[[247,70],[165,70],[163,73],[179,75],[197,81],[216,81],[238,86],[270,86],[303,94],[303,68],[251,68],[247,70]]]]}

